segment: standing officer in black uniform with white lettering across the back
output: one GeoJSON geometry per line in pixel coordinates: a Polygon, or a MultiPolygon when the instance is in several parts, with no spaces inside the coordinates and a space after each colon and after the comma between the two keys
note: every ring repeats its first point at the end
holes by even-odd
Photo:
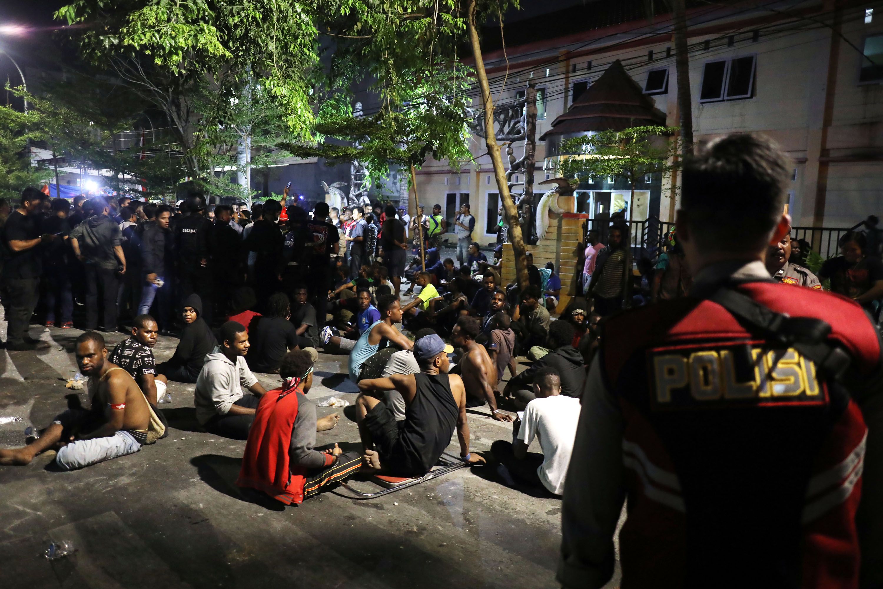
{"type": "Polygon", "coordinates": [[[175,225],[179,300],[194,292],[202,299],[204,319],[212,321],[213,281],[208,261],[211,258],[212,223],[206,218],[206,199],[192,191],[184,201],[187,215],[175,225]]]}

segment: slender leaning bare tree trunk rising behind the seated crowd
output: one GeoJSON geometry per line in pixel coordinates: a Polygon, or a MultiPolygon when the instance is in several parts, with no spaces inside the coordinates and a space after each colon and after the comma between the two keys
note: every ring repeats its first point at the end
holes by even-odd
{"type": "Polygon", "coordinates": [[[494,134],[494,101],[491,98],[491,87],[487,82],[484,58],[481,57],[481,43],[479,33],[475,26],[475,12],[477,0],[469,0],[466,11],[469,28],[469,41],[472,44],[472,57],[475,58],[475,73],[481,87],[481,102],[485,109],[485,145],[487,155],[490,155],[494,163],[494,177],[496,178],[497,190],[500,191],[502,208],[505,211],[506,222],[509,223],[509,236],[512,239],[512,253],[515,256],[516,276],[518,287],[521,290],[527,288],[527,260],[525,259],[525,240],[522,238],[521,225],[518,224],[518,211],[509,194],[509,184],[506,182],[506,170],[502,166],[500,147],[497,146],[494,134]]]}

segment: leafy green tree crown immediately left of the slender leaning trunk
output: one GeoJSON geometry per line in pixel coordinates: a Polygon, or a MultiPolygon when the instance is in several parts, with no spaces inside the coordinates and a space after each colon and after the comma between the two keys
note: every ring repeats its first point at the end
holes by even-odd
{"type": "Polygon", "coordinates": [[[472,159],[466,127],[472,70],[458,60],[465,31],[459,8],[456,0],[350,3],[326,24],[334,53],[315,76],[318,141],[284,146],[301,157],[358,160],[372,182],[390,164],[419,167],[429,155],[455,167],[472,159]],[[351,108],[354,87],[377,97],[361,116],[351,108]]]}

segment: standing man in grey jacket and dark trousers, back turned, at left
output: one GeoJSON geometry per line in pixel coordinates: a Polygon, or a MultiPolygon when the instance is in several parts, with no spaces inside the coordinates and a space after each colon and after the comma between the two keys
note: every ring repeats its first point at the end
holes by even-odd
{"type": "Polygon", "coordinates": [[[108,216],[110,206],[102,198],[90,199],[95,215],[79,223],[70,234],[77,259],[86,274],[86,331],[98,328],[98,291],[102,291],[102,331],[117,330],[119,277],[125,275],[123,234],[108,216]]]}

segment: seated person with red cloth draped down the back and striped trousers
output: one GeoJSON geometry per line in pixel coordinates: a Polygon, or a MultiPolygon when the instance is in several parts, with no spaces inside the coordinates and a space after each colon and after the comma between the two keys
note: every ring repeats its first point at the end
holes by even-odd
{"type": "MultiPolygon", "coordinates": [[[[290,351],[282,359],[282,389],[268,391],[249,430],[242,470],[236,484],[266,493],[285,504],[300,503],[358,472],[359,452],[343,452],[337,444],[324,452],[316,444],[316,405],[306,398],[313,386],[313,361],[309,351],[290,351]],[[281,452],[280,449],[286,449],[281,452]]],[[[330,429],[335,420],[322,419],[318,430],[330,429]]]]}

